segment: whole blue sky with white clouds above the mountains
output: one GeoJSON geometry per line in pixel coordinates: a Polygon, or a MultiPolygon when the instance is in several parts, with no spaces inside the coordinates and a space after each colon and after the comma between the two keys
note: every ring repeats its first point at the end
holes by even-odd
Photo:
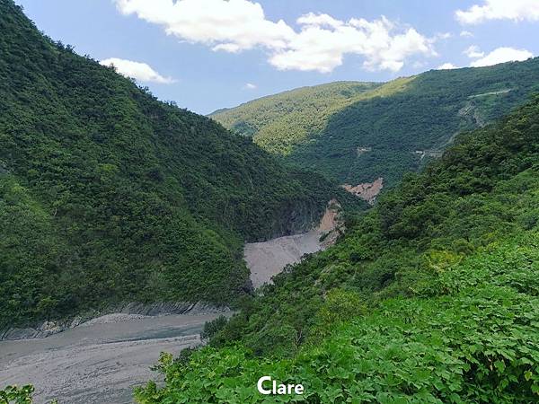
{"type": "Polygon", "coordinates": [[[539,55],[539,0],[16,0],[41,31],[199,113],[337,80],[539,55]]]}

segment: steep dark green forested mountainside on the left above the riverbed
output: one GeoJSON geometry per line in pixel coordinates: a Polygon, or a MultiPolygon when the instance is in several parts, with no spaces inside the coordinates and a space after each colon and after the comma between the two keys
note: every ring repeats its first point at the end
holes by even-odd
{"type": "Polygon", "coordinates": [[[230,303],[243,242],[340,193],[44,37],[0,0],[0,329],[119,302],[230,303]]]}

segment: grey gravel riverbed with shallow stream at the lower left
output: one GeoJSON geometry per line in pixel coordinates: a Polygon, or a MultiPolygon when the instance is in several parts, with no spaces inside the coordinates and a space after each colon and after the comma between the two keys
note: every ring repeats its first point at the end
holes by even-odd
{"type": "Polygon", "coordinates": [[[0,386],[31,383],[37,404],[131,403],[134,386],[159,378],[150,366],[160,353],[199,345],[219,315],[110,314],[49,338],[0,341],[0,386]]]}

